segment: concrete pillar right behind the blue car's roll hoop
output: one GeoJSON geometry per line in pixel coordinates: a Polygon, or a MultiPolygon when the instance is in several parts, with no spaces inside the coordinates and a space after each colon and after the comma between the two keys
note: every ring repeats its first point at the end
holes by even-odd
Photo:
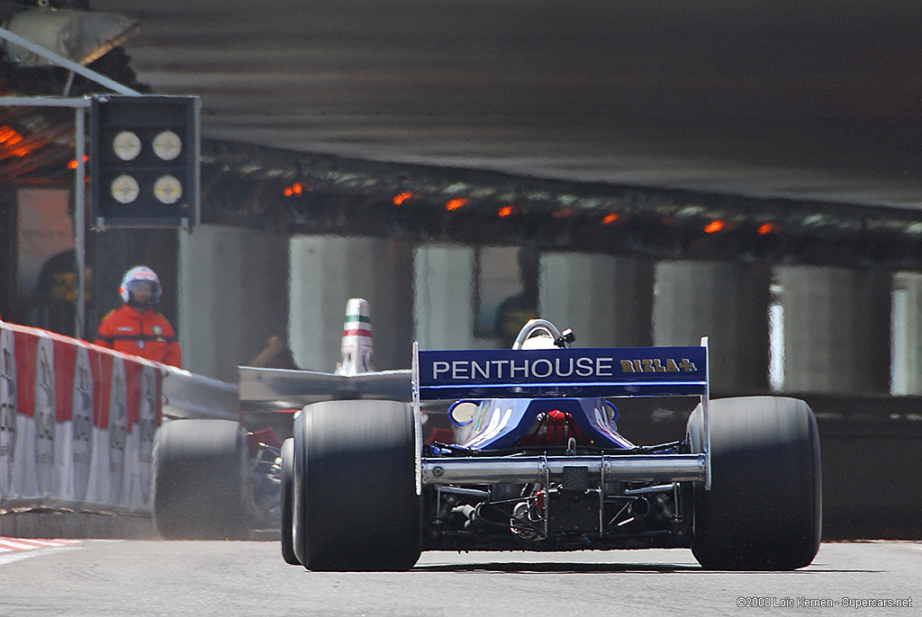
{"type": "Polygon", "coordinates": [[[573,328],[576,345],[632,347],[653,342],[653,262],[573,252],[541,256],[538,312],[573,328]]]}

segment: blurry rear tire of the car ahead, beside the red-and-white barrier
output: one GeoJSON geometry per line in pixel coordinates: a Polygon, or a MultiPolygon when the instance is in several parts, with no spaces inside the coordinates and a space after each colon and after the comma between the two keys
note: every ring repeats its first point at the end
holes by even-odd
{"type": "Polygon", "coordinates": [[[229,420],[160,426],[152,463],[154,524],[167,540],[249,534],[246,433],[229,420]]]}

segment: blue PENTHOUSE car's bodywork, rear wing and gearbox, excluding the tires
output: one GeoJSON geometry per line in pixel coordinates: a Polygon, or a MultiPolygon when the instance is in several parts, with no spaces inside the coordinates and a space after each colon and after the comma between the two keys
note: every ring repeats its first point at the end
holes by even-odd
{"type": "Polygon", "coordinates": [[[416,349],[413,379],[416,409],[460,398],[455,443],[420,449],[425,548],[689,545],[680,505],[708,481],[706,434],[696,452],[687,440],[635,446],[608,397],[698,396],[706,413],[706,345],[416,349]]]}

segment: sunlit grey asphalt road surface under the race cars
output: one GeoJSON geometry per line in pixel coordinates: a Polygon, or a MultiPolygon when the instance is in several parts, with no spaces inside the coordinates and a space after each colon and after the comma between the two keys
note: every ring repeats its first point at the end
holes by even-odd
{"type": "Polygon", "coordinates": [[[813,565],[784,573],[707,572],[685,550],[423,553],[410,572],[313,573],[285,565],[272,541],[87,540],[4,553],[0,581],[3,617],[918,615],[922,542],[823,544],[813,565]]]}

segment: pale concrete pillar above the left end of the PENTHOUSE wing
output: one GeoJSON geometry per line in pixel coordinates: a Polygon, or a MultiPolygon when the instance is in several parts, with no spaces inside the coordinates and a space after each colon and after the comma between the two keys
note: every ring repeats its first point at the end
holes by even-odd
{"type": "Polygon", "coordinates": [[[421,349],[494,346],[474,337],[474,261],[470,247],[439,244],[416,250],[413,316],[421,349]]]}

